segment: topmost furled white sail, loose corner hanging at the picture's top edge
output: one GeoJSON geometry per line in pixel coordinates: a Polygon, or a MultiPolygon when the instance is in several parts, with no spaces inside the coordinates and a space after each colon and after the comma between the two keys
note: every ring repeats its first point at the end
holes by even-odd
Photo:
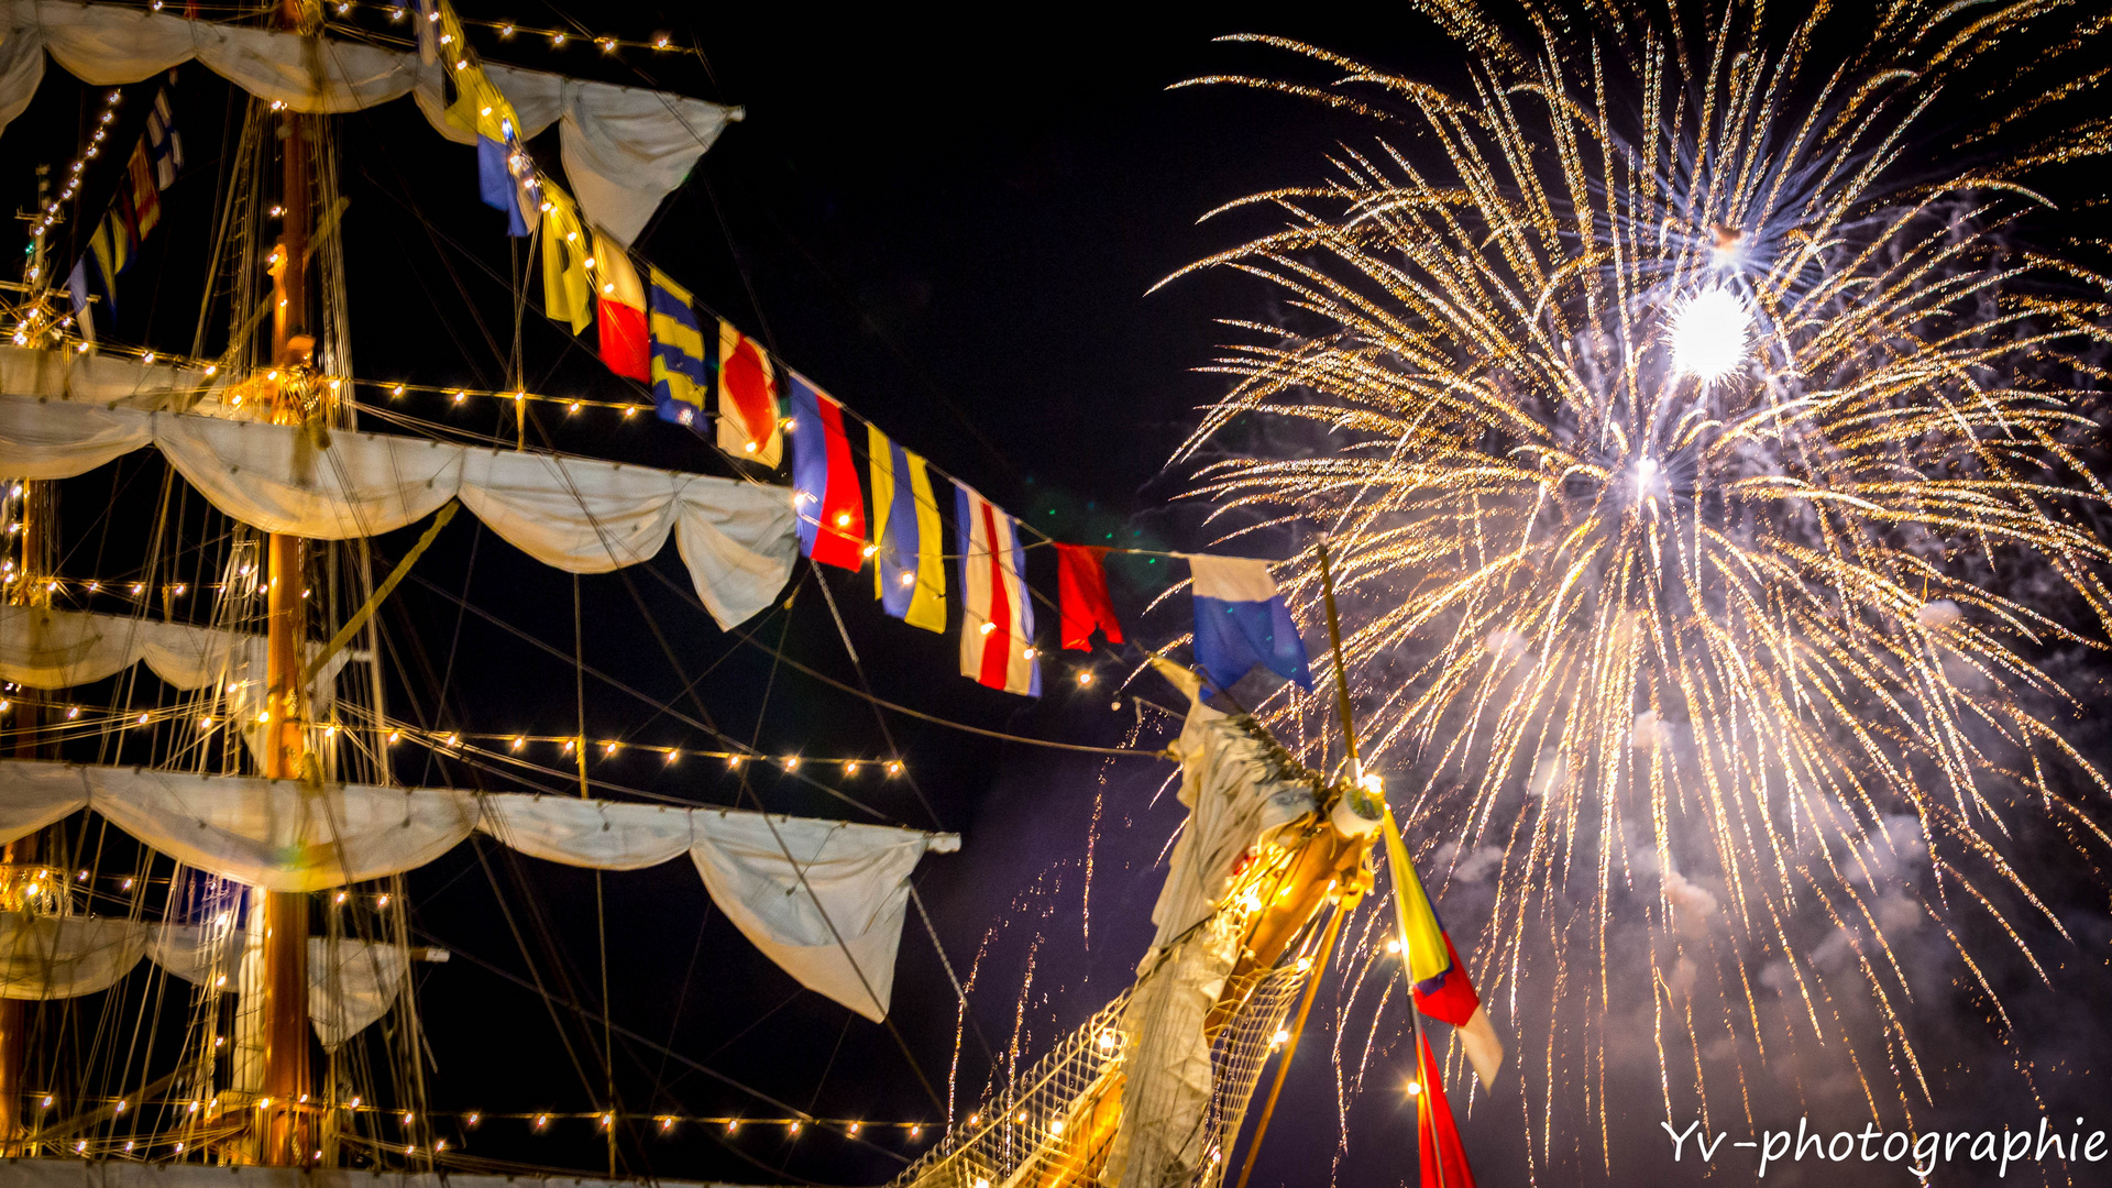
{"type": "MultiPolygon", "coordinates": [[[[357,112],[416,91],[439,135],[475,142],[473,131],[446,118],[446,66],[422,63],[416,53],[72,0],[0,0],[0,129],[36,95],[44,53],[95,87],[139,82],[199,59],[258,99],[315,114],[357,112]]],[[[490,66],[488,74],[520,114],[524,135],[560,125],[579,205],[625,245],[727,123],[741,118],[739,108],[638,87],[509,66],[490,66]]],[[[465,184],[469,169],[465,161],[465,184]]]]}

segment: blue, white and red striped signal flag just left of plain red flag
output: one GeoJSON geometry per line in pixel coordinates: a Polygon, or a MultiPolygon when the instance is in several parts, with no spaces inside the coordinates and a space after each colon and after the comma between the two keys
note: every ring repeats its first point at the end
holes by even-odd
{"type": "Polygon", "coordinates": [[[1012,516],[959,480],[953,514],[961,537],[961,676],[1039,698],[1041,664],[1020,533],[1012,516]]]}

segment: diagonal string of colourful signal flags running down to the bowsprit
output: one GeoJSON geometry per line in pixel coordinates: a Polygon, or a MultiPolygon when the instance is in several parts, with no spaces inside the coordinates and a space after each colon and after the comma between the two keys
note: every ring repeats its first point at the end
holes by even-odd
{"type": "MultiPolygon", "coordinates": [[[[648,260],[640,277],[629,245],[583,222],[564,186],[536,169],[517,135],[520,118],[467,47],[454,8],[446,0],[416,4],[420,57],[437,61],[441,47],[458,47],[450,49],[458,95],[450,118],[477,133],[479,197],[505,214],[511,237],[541,245],[543,313],[574,336],[593,326],[602,366],[646,385],[659,419],[695,433],[710,421],[712,442],[729,459],[775,471],[790,452],[800,552],[851,573],[870,564],[885,613],[940,634],[948,617],[948,552],[931,476],[946,480],[961,674],[991,689],[1041,695],[1043,647],[1026,588],[1022,522],[781,366],[729,319],[712,317],[708,342],[695,296],[648,260]],[[866,429],[864,467],[853,457],[847,419],[866,429]]],[[[1058,558],[1060,645],[1086,651],[1096,630],[1121,643],[1102,564],[1111,550],[1043,541],[1058,558]]],[[[1178,556],[1193,577],[1195,662],[1212,685],[1231,687],[1263,666],[1312,687],[1305,643],[1267,560],[1178,556]]]]}

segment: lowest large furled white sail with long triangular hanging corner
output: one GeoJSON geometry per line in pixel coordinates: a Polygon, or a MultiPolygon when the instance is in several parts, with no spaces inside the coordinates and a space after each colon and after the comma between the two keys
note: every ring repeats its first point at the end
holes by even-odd
{"type": "Polygon", "coordinates": [[[743,936],[868,1019],[885,1017],[893,996],[910,871],[925,852],[961,848],[953,833],[718,808],[0,759],[0,843],[78,810],[188,867],[283,892],[401,873],[473,829],[602,871],[686,852],[743,936]]]}

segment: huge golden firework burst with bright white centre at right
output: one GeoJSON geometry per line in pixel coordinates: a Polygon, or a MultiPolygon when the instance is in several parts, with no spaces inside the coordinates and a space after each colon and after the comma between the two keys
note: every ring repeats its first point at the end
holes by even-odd
{"type": "MultiPolygon", "coordinates": [[[[1829,57],[1825,13],[1527,11],[1514,38],[1430,8],[1466,49],[1453,91],[1290,42],[1335,80],[1202,80],[1388,131],[1225,207],[1284,222],[1193,266],[1288,304],[1233,323],[1195,493],[1337,541],[1371,753],[1419,776],[1426,854],[1497,854],[1476,966],[1542,1158],[1559,1103],[1603,1137],[1635,1000],[1666,1108],[1730,1076],[1751,1118],[1753,1061],[1802,1040],[1911,1118],[1932,1091],[1892,939],[1943,936],[2000,1013],[1958,920],[2034,968],[2017,917],[2061,928],[2011,820],[2108,841],[2047,668],[2112,624],[2108,285],[2019,247],[2030,171],[2106,148],[2055,114],[2097,76],[2049,80],[2106,21],[1897,4],[1829,57]],[[1987,91],[1983,51],[2038,25],[2066,40],[1987,91]],[[1947,91],[1985,127],[1939,135],[1947,91]],[[1326,444],[1225,459],[1233,419],[1326,444]]],[[[1276,712],[1322,734],[1295,721],[1320,700],[1276,712]]]]}

